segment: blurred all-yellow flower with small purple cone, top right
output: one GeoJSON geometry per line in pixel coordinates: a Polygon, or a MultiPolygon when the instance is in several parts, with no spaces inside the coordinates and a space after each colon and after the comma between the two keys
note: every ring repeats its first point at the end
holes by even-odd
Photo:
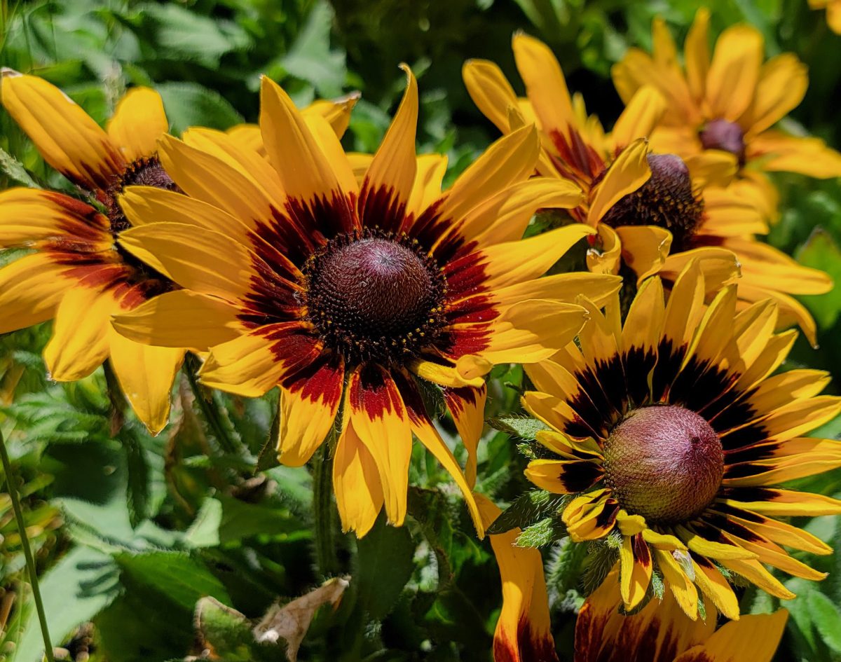
{"type": "Polygon", "coordinates": [[[654,86],[669,109],[651,136],[655,150],[690,157],[727,152],[738,160],[739,176],[754,188],[764,213],[776,213],[774,185],[767,172],[841,176],[841,155],[821,139],[786,134],[774,125],[806,95],[808,76],[796,55],[764,60],[758,29],[733,25],[718,37],[710,56],[710,13],[701,8],[686,36],[684,66],[662,18],[653,23],[653,53],[636,48],[613,67],[616,91],[625,102],[654,86]]]}

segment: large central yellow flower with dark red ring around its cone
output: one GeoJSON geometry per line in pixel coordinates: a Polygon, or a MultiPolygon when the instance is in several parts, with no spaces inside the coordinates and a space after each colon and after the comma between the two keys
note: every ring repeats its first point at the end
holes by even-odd
{"type": "Polygon", "coordinates": [[[578,204],[566,181],[529,181],[537,132],[492,145],[441,192],[446,161],[415,156],[414,76],[357,184],[336,135],[262,81],[268,160],[224,134],[165,138],[182,191],[127,189],[126,250],[184,289],[115,319],[140,342],[210,348],[204,384],[257,397],[280,386],[278,451],[303,465],[342,407],[333,484],[358,535],[383,504],[403,523],[415,436],[470,494],[492,365],[547,358],[584,322],[575,292],[604,298],[618,279],[538,279],[592,232],[573,225],[520,240],[532,213],[578,204]],[[199,149],[199,147],[201,149],[199,149]],[[431,423],[416,378],[442,386],[468,449],[465,478],[431,423]]]}

